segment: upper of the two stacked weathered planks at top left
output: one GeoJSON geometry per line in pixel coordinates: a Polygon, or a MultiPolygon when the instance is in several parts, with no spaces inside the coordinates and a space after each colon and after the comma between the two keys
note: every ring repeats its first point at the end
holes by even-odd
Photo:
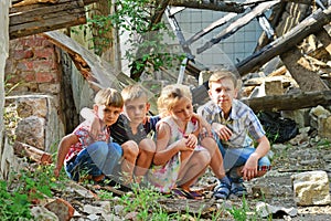
{"type": "Polygon", "coordinates": [[[79,13],[85,12],[84,4],[73,1],[60,3],[51,7],[41,7],[29,11],[22,11],[20,13],[9,14],[10,27],[21,23],[28,23],[33,21],[46,20],[54,17],[63,17],[66,13],[79,13]]]}

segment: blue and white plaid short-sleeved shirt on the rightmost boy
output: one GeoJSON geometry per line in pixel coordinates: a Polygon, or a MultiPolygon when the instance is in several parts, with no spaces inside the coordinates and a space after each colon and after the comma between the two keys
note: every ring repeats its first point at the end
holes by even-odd
{"type": "Polygon", "coordinates": [[[224,118],[221,107],[212,101],[199,107],[197,114],[204,117],[207,123],[226,125],[233,131],[229,140],[222,140],[222,144],[226,148],[252,146],[252,138],[256,140],[266,134],[252,108],[238,99],[233,99],[232,109],[227,119],[224,118]]]}

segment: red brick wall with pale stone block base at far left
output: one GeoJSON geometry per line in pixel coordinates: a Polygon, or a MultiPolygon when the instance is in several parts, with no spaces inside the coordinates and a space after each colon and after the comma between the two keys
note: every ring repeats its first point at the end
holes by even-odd
{"type": "Polygon", "coordinates": [[[17,141],[56,150],[54,146],[65,133],[61,60],[58,49],[42,35],[10,41],[6,85],[19,85],[7,94],[6,105],[18,113],[17,141]]]}

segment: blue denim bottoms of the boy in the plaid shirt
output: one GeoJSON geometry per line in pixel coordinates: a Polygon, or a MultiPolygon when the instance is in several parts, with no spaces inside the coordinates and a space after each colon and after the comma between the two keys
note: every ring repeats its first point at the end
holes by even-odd
{"type": "MultiPolygon", "coordinates": [[[[223,156],[223,165],[225,171],[231,170],[235,167],[244,166],[249,158],[249,156],[255,151],[254,147],[244,147],[244,148],[225,148],[218,136],[214,136],[220,151],[223,156]]],[[[270,160],[267,156],[258,160],[258,170],[269,170],[270,160]]]]}

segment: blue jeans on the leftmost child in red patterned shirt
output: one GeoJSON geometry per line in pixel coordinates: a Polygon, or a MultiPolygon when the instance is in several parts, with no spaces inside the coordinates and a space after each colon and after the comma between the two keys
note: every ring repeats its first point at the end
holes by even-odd
{"type": "Polygon", "coordinates": [[[96,141],[83,149],[74,160],[65,166],[67,176],[78,181],[81,176],[110,176],[122,156],[121,147],[116,143],[96,141]]]}

